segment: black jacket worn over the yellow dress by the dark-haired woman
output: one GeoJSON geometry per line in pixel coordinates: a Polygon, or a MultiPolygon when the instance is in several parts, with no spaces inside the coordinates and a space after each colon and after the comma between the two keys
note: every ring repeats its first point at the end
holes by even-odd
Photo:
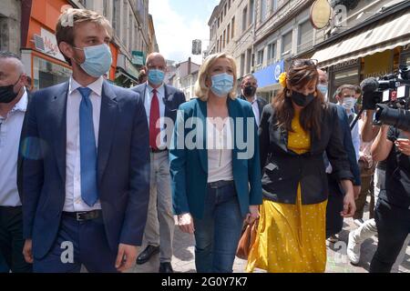
{"type": "Polygon", "coordinates": [[[259,128],[262,189],[265,198],[285,204],[295,204],[298,184],[302,188],[302,204],[318,204],[327,199],[328,185],[323,152],[339,180],[353,179],[343,148],[342,133],[335,105],[323,108],[321,137],[311,133],[311,150],[298,155],[288,149],[287,131],[276,125],[272,105],[263,108],[259,128]]]}

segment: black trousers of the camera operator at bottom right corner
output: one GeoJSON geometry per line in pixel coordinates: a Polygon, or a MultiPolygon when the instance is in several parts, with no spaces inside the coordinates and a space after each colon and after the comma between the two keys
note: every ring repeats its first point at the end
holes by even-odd
{"type": "Polygon", "coordinates": [[[393,206],[379,198],[374,219],[379,242],[369,272],[390,273],[410,233],[410,209],[393,206]]]}

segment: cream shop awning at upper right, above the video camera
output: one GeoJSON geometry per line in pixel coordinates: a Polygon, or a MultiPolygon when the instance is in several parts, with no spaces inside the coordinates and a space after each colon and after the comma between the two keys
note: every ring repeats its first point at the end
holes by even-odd
{"type": "Polygon", "coordinates": [[[321,67],[374,55],[397,46],[410,44],[410,10],[384,18],[353,35],[345,35],[333,45],[317,51],[312,58],[321,67]]]}

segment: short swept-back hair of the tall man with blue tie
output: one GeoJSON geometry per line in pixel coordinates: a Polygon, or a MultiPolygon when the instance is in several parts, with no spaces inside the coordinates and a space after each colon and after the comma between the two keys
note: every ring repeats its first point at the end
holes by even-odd
{"type": "MultiPolygon", "coordinates": [[[[97,14],[95,11],[87,9],[67,9],[60,17],[58,18],[56,24],[56,42],[59,46],[61,42],[65,42],[68,45],[74,45],[74,28],[77,24],[83,22],[92,22],[97,25],[104,26],[108,35],[112,37],[112,27],[106,17],[103,15],[97,14]]],[[[63,54],[64,55],[64,54],[63,54]]],[[[70,64],[70,60],[64,55],[64,58],[70,64]]],[[[70,64],[71,65],[71,64],[70,64]]]]}

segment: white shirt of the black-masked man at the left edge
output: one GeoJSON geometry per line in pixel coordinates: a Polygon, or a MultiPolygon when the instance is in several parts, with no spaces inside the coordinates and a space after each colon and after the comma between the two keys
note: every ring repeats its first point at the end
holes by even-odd
{"type": "Polygon", "coordinates": [[[17,190],[17,159],[27,103],[25,92],[6,116],[0,115],[0,206],[21,206],[17,190]]]}

